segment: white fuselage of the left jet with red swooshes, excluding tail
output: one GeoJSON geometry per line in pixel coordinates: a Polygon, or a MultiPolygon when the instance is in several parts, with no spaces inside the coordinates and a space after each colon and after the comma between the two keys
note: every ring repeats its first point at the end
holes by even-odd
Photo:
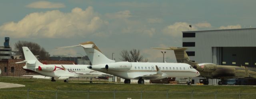
{"type": "MultiPolygon", "coordinates": [[[[32,73],[36,73],[43,76],[49,76],[49,77],[61,77],[61,76],[69,76],[69,77],[98,77],[97,74],[86,74],[81,75],[79,73],[102,73],[99,71],[94,71],[91,69],[88,69],[87,66],[89,65],[41,65],[41,67],[44,66],[51,66],[55,67],[56,69],[49,68],[52,71],[44,71],[44,70],[38,70],[39,66],[24,66],[22,67],[24,70],[32,73]],[[63,67],[65,68],[63,68],[63,67]],[[65,71],[66,69],[66,71],[65,71]]],[[[105,74],[105,73],[102,73],[105,74]]]]}

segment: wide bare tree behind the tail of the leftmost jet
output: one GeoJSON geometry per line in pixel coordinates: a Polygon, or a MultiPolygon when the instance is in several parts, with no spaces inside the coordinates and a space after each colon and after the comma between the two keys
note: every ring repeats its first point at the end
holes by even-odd
{"type": "Polygon", "coordinates": [[[15,43],[15,48],[19,49],[19,53],[22,55],[22,59],[25,59],[22,47],[28,47],[34,55],[39,55],[41,60],[49,59],[50,55],[48,54],[48,52],[37,43],[27,42],[27,41],[18,41],[15,43]]]}

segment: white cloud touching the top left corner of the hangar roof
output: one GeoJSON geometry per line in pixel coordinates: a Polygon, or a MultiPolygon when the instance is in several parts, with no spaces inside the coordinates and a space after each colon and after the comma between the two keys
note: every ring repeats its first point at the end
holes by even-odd
{"type": "MultiPolygon", "coordinates": [[[[164,27],[162,32],[166,35],[170,36],[182,36],[182,31],[190,31],[190,24],[186,22],[176,22],[170,26],[164,27]]],[[[192,31],[193,30],[198,30],[198,28],[210,28],[211,24],[208,22],[203,22],[203,23],[197,23],[197,24],[192,24],[192,31]]]]}

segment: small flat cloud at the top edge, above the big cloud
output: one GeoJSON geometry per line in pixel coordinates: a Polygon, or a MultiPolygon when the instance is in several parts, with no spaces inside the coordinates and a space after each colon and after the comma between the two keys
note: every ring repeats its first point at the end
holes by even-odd
{"type": "Polygon", "coordinates": [[[65,5],[62,3],[38,1],[26,5],[27,8],[64,8],[65,5]]]}

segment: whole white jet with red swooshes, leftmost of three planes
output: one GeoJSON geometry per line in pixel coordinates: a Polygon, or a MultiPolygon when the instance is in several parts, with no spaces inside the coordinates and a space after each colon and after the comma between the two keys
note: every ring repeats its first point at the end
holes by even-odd
{"type": "Polygon", "coordinates": [[[24,76],[45,79],[51,78],[51,81],[56,81],[54,77],[58,77],[58,79],[65,79],[64,82],[68,82],[68,78],[72,77],[90,77],[90,83],[92,83],[92,77],[110,76],[106,73],[88,69],[87,66],[89,65],[45,65],[38,61],[38,59],[33,55],[28,47],[22,47],[22,49],[24,52],[25,60],[16,63],[26,62],[26,65],[22,67],[22,69],[31,73],[39,74],[24,76]]]}

